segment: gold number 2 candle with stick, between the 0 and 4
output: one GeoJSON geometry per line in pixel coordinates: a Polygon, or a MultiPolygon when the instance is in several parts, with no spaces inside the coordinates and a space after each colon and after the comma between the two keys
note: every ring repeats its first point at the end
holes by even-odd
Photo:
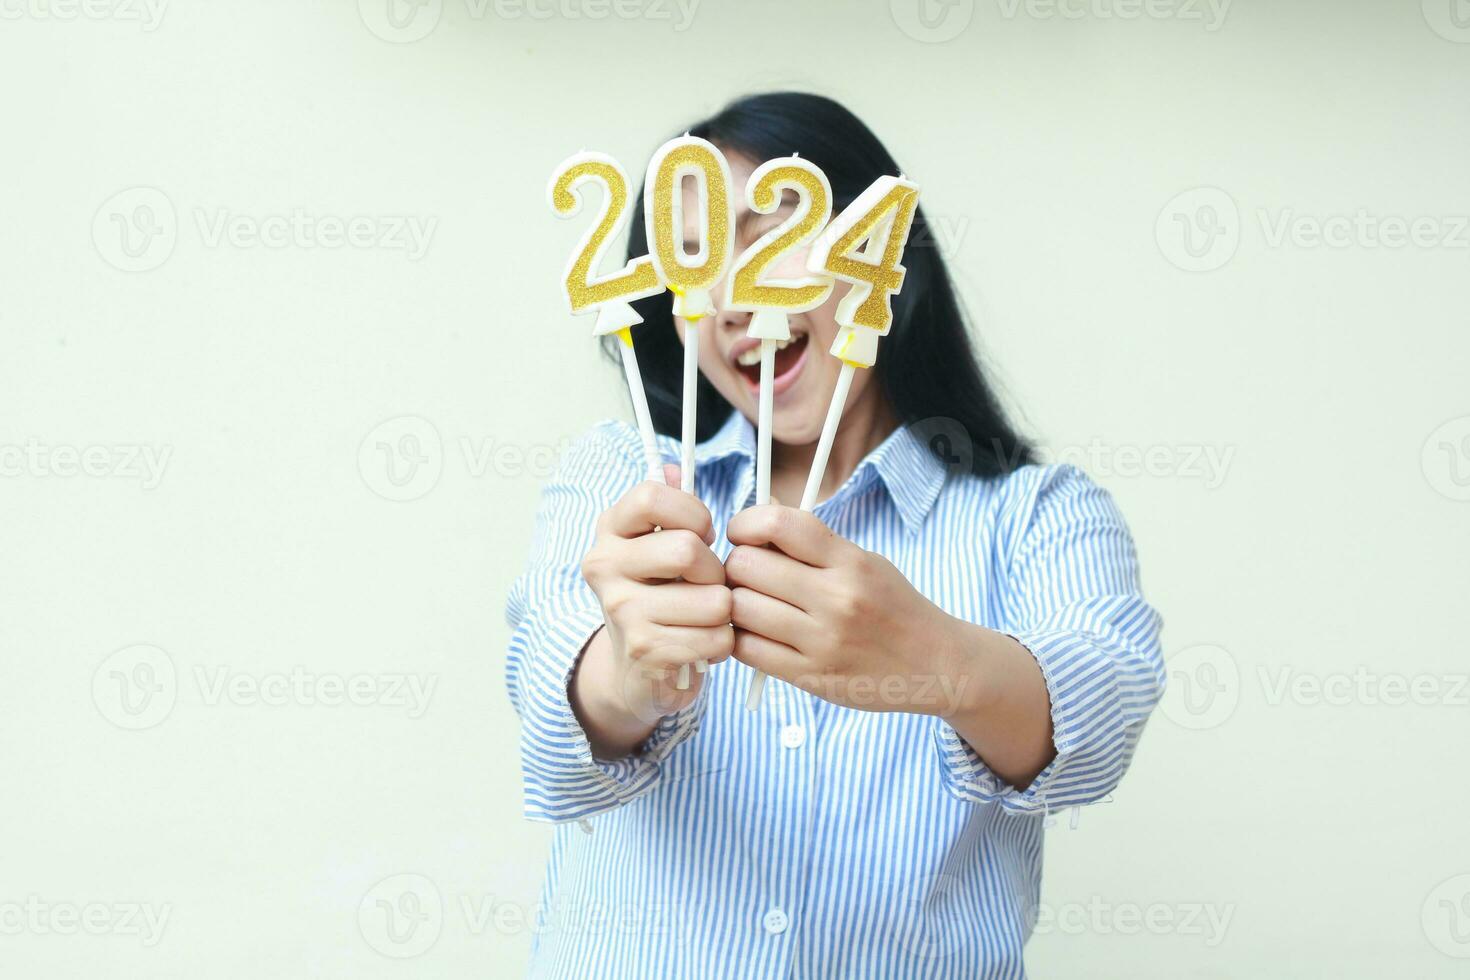
{"type": "MultiPolygon", "coordinates": [[[[745,203],[753,213],[773,215],[782,207],[782,195],[786,191],[795,195],[795,207],[785,220],[757,238],[735,260],[728,303],[732,310],[751,313],[747,336],[760,341],[760,389],[756,411],[757,507],[770,502],[776,351],[791,341],[791,314],[822,306],[833,287],[831,275],[811,272],[804,262],[806,247],[832,216],[832,187],[814,163],[791,156],[756,167],[745,184],[745,203]],[[792,276],[791,272],[797,275],[792,276]]],[[[745,695],[745,707],[751,711],[759,708],[764,689],[766,674],[757,670],[745,695]]]]}

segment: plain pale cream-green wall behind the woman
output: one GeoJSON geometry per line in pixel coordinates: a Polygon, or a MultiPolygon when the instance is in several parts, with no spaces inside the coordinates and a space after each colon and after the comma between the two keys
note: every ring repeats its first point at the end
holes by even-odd
{"type": "Polygon", "coordinates": [[[626,413],[544,185],[785,87],[1166,616],[1032,973],[1464,974],[1470,9],[923,1],[0,0],[0,974],[520,971],[504,598],[626,413]]]}

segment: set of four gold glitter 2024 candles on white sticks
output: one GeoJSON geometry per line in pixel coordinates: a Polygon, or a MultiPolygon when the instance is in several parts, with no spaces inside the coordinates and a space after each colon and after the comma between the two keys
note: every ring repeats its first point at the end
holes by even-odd
{"type": "MultiPolygon", "coordinates": [[[[557,167],[548,194],[553,210],[572,216],[581,210],[581,187],[589,181],[604,187],[603,212],[582,237],[567,266],[567,301],[573,313],[597,313],[594,336],[617,334],[622,339],[623,370],[648,473],[651,479],[662,480],[657,436],[632,342],[631,328],[641,323],[642,317],[631,303],[664,288],[675,294],[673,311],[685,320],[681,483],[685,492],[692,494],[698,323],[714,311],[710,289],[725,278],[734,251],[729,163],[711,143],[688,134],[660,147],[648,165],[644,184],[650,254],[629,260],[622,270],[609,276],[597,276],[595,269],[612,239],[626,226],[628,175],[607,154],[579,153],[557,167]],[[684,192],[691,178],[698,238],[694,254],[682,244],[684,192]]],[[[825,303],[836,281],[851,287],[838,303],[835,319],[839,329],[831,348],[831,354],[842,361],[842,370],[801,495],[801,510],[810,511],[822,488],[854,372],[876,363],[878,341],[892,328],[891,297],[903,288],[901,259],[913,226],[919,188],[903,176],[882,176],[829,222],[832,188],[826,175],[816,165],[792,156],[769,160],[757,167],[747,182],[745,200],[753,212],[770,215],[781,207],[782,194],[788,190],[797,195],[795,209],[735,260],[728,306],[753,313],[747,332],[759,338],[761,345],[756,502],[766,504],[770,501],[775,351],[791,338],[788,320],[792,313],[813,310],[825,303]],[[784,257],[808,245],[808,275],[769,275],[784,257]]],[[[704,670],[703,663],[697,667],[704,670]]],[[[747,695],[747,708],[760,707],[764,682],[766,676],[757,671],[747,695]]],[[[685,667],[678,685],[688,688],[688,683],[689,673],[685,667]]]]}

